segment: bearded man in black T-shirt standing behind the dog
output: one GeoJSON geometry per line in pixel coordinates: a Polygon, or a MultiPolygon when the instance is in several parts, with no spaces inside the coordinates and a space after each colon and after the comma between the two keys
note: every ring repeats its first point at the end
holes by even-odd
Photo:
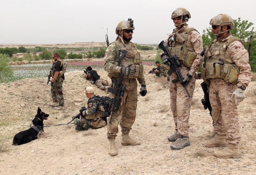
{"type": "Polygon", "coordinates": [[[52,59],[55,61],[52,65],[52,83],[51,83],[51,94],[52,103],[49,105],[54,107],[55,110],[64,110],[64,98],[62,93],[62,83],[65,79],[63,73],[64,63],[60,60],[59,53],[55,52],[52,54],[52,59]]]}

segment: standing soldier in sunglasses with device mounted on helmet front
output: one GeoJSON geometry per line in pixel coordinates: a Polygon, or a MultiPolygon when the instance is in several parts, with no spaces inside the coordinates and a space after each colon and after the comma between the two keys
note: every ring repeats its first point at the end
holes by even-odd
{"type": "MultiPolygon", "coordinates": [[[[136,117],[137,108],[137,80],[141,84],[140,94],[145,96],[147,93],[145,79],[143,75],[143,65],[141,64],[140,50],[135,44],[130,42],[134,30],[133,20],[128,19],[118,23],[116,27],[117,38],[111,43],[105,53],[104,69],[108,72],[108,76],[112,79],[112,87],[115,87],[113,79],[119,81],[121,73],[124,74],[122,83],[126,86],[124,97],[121,106],[117,112],[112,116],[112,122],[109,123],[108,118],[108,140],[109,151],[108,154],[117,155],[115,138],[118,132],[118,124],[122,128],[122,142],[125,145],[140,145],[140,142],[129,137],[129,132],[132,130],[132,124],[136,117]],[[121,50],[128,51],[121,61],[121,66],[118,66],[118,58],[121,50]],[[132,64],[131,67],[130,64],[132,64]],[[129,65],[129,66],[128,66],[129,65]]],[[[110,94],[110,98],[114,94],[110,94]]]]}

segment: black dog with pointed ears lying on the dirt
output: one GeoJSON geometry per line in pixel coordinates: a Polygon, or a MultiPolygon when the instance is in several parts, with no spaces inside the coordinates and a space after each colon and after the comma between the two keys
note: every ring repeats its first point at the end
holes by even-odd
{"type": "Polygon", "coordinates": [[[33,127],[29,128],[25,131],[20,131],[19,133],[15,134],[12,145],[21,145],[30,142],[31,140],[37,139],[38,132],[44,131],[44,120],[47,120],[49,114],[45,114],[42,110],[38,107],[37,114],[35,118],[32,120],[33,127]]]}

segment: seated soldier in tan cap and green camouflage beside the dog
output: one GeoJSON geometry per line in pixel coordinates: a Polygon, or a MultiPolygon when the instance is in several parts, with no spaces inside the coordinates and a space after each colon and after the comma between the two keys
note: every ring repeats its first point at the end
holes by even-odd
{"type": "Polygon", "coordinates": [[[80,119],[76,118],[74,120],[76,130],[88,130],[106,126],[106,116],[102,116],[102,109],[100,108],[99,100],[96,98],[97,96],[94,95],[93,88],[86,87],[85,95],[89,98],[87,108],[83,111],[80,119]]]}

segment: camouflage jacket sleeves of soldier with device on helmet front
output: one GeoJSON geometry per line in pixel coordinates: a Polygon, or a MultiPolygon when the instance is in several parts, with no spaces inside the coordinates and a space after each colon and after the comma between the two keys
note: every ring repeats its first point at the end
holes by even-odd
{"type": "MultiPolygon", "coordinates": [[[[134,46],[136,47],[136,46],[134,46]]],[[[115,43],[111,43],[108,48],[106,49],[105,52],[105,57],[104,57],[104,70],[109,72],[109,73],[120,73],[120,66],[116,66],[117,64],[115,61],[115,57],[116,55],[119,54],[118,51],[118,46],[115,43]]],[[[141,85],[145,85],[145,78],[144,75],[142,78],[137,78],[137,80],[139,81],[139,83],[141,85]]]]}

